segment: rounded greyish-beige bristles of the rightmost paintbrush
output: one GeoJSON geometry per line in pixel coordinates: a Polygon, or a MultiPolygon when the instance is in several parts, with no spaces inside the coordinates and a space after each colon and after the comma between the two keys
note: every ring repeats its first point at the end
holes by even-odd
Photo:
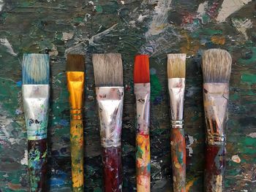
{"type": "Polygon", "coordinates": [[[232,58],[226,50],[211,49],[203,53],[203,82],[229,82],[232,58]]]}

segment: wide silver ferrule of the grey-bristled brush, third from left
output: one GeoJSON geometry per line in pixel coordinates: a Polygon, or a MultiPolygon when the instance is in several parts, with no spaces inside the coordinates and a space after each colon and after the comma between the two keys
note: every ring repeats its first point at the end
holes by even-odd
{"type": "Polygon", "coordinates": [[[121,146],[124,87],[97,87],[102,147],[121,146]]]}

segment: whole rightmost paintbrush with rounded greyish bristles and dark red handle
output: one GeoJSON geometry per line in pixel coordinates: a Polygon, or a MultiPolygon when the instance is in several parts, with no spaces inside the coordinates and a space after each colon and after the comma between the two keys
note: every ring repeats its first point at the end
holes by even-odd
{"type": "Polygon", "coordinates": [[[205,191],[223,191],[225,127],[232,58],[226,50],[203,53],[203,106],[206,117],[205,191]]]}

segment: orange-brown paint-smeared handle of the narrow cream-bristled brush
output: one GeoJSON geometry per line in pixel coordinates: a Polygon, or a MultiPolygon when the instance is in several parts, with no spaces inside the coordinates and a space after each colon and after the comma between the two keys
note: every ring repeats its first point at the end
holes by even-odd
{"type": "Polygon", "coordinates": [[[170,150],[173,169],[173,191],[186,191],[186,143],[183,128],[171,128],[170,150]]]}

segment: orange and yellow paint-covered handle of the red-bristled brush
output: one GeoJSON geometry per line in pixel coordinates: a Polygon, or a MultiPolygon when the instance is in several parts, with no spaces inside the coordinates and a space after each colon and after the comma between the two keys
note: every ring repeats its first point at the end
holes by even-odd
{"type": "Polygon", "coordinates": [[[150,191],[150,142],[148,134],[137,134],[136,171],[137,191],[150,191]]]}

